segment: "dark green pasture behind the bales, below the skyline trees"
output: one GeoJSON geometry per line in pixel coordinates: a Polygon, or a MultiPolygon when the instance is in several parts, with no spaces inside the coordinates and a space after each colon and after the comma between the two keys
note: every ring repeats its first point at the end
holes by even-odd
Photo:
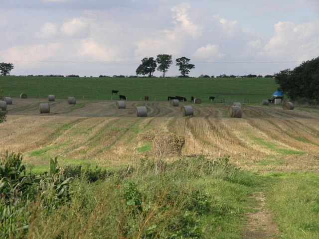
{"type": "Polygon", "coordinates": [[[77,78],[77,77],[17,77],[1,76],[3,96],[19,97],[22,92],[30,98],[57,99],[73,96],[77,99],[117,100],[125,95],[128,100],[166,101],[167,96],[191,96],[209,102],[222,99],[246,99],[256,103],[270,99],[279,87],[273,78],[77,78]],[[111,94],[118,90],[118,95],[111,94]],[[112,98],[111,98],[112,97],[112,98]]]}

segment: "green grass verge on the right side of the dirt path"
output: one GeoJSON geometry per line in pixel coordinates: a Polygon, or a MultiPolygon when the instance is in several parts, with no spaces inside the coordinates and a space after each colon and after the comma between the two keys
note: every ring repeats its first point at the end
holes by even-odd
{"type": "Polygon", "coordinates": [[[290,175],[271,187],[268,203],[283,238],[319,238],[319,177],[290,175]]]}

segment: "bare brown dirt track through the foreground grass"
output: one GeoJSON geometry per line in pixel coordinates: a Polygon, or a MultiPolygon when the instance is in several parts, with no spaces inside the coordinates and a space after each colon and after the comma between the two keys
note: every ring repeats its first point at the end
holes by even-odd
{"type": "Polygon", "coordinates": [[[246,229],[241,233],[245,239],[275,239],[280,231],[273,222],[273,214],[265,207],[265,195],[263,192],[256,192],[253,196],[258,205],[253,212],[247,213],[248,223],[246,229]]]}

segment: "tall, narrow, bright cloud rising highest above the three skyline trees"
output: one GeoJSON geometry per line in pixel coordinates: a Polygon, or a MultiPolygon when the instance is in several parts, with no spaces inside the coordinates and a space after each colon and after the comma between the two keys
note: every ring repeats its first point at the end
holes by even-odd
{"type": "MultiPolygon", "coordinates": [[[[190,4],[183,3],[178,6],[171,8],[171,11],[176,14],[173,16],[177,22],[181,23],[181,28],[193,38],[202,35],[202,27],[192,22],[188,16],[188,10],[190,9],[190,4]]],[[[176,24],[177,24],[176,22],[176,24]]]]}

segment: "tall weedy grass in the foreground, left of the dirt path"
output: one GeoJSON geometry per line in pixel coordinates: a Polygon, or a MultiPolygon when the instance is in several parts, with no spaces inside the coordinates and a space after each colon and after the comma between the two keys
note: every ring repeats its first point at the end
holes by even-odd
{"type": "Polygon", "coordinates": [[[47,214],[30,204],[28,238],[239,239],[260,183],[227,158],[205,157],[167,163],[160,174],[144,159],[95,183],[73,176],[69,205],[47,214]]]}

